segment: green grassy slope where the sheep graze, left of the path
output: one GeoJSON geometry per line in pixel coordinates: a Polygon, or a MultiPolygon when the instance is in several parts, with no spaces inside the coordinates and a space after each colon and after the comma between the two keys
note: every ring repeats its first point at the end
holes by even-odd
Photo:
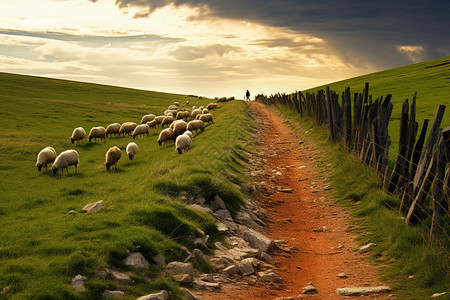
{"type": "MultiPolygon", "coordinates": [[[[210,100],[187,98],[201,105],[210,100]]],[[[194,137],[192,149],[179,155],[173,145],[158,147],[161,129],[137,139],[139,151],[130,162],[122,152],[117,172],[103,162],[111,146],[125,149],[131,137],[106,143],[72,145],[75,127],[113,122],[139,122],[147,113],[161,114],[182,95],[132,90],[79,82],[0,73],[0,287],[10,286],[1,298],[96,298],[105,288],[136,296],[167,288],[168,279],[143,284],[136,275],[131,287],[112,280],[93,279],[93,270],[120,265],[126,250],[140,247],[148,260],[162,253],[166,260],[183,259],[181,246],[191,247],[199,227],[214,238],[212,217],[186,209],[176,198],[185,190],[207,197],[219,194],[228,207],[239,207],[243,195],[225,178],[224,170],[240,174],[246,151],[251,150],[250,121],[240,101],[219,104],[215,123],[194,137]],[[52,146],[60,153],[76,149],[78,174],[39,173],[37,153],[52,146]],[[103,200],[105,209],[82,214],[87,203],[103,200]],[[78,213],[70,215],[75,210],[78,213]],[[88,277],[88,291],[75,293],[70,278],[88,277]]],[[[239,175],[237,180],[245,180],[239,175]]]]}

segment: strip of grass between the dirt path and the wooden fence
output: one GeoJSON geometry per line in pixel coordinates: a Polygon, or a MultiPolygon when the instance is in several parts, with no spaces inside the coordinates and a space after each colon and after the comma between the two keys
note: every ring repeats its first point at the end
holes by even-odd
{"type": "MultiPolygon", "coordinates": [[[[359,238],[361,245],[378,246],[371,259],[380,267],[381,279],[387,281],[397,299],[427,299],[437,292],[448,292],[450,282],[450,244],[428,243],[423,227],[410,227],[398,213],[400,199],[379,189],[377,174],[348,154],[340,145],[332,144],[327,129],[283,106],[277,109],[290,120],[299,138],[314,139],[326,155],[315,163],[318,168],[331,164],[326,175],[334,187],[336,201],[352,210],[355,233],[368,232],[359,238]],[[408,278],[414,276],[413,278],[408,278]]],[[[328,169],[328,168],[327,168],[328,169]]]]}

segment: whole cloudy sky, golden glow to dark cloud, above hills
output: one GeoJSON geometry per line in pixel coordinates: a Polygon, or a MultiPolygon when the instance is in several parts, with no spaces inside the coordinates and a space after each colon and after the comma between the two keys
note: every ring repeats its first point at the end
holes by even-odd
{"type": "Polygon", "coordinates": [[[207,97],[450,56],[448,0],[0,0],[0,72],[207,97]]]}

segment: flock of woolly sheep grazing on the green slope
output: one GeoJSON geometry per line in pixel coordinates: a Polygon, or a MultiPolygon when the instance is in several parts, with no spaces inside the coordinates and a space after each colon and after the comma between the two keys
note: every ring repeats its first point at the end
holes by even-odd
{"type": "MultiPolygon", "coordinates": [[[[189,104],[189,101],[186,101],[189,104]]],[[[92,139],[97,142],[97,139],[105,140],[108,136],[125,136],[131,135],[133,139],[140,135],[149,136],[150,128],[157,128],[159,125],[164,127],[168,125],[168,128],[163,129],[158,137],[158,144],[161,146],[163,143],[167,144],[170,142],[175,143],[175,150],[181,154],[187,151],[191,146],[193,139],[193,132],[198,130],[203,130],[205,123],[213,123],[213,115],[209,112],[210,110],[217,108],[217,103],[209,103],[206,107],[196,106],[192,107],[192,111],[187,108],[178,110],[180,103],[175,102],[170,105],[168,109],[164,112],[164,115],[155,116],[154,114],[148,114],[142,117],[141,124],[137,125],[134,122],[125,122],[123,124],[113,123],[110,124],[106,129],[102,126],[93,127],[89,132],[89,142],[92,139]]],[[[75,142],[77,144],[86,138],[86,132],[82,127],[77,127],[73,130],[70,140],[72,144],[75,142]]],[[[126,147],[126,153],[130,160],[133,159],[134,155],[138,151],[138,146],[134,142],[130,142],[126,147]]],[[[109,148],[106,152],[105,166],[107,170],[117,167],[117,162],[122,156],[122,151],[119,147],[113,146],[109,148]]],[[[47,170],[47,165],[52,164],[53,174],[56,174],[58,170],[64,173],[64,169],[69,172],[69,167],[75,167],[75,173],[77,172],[78,165],[80,163],[78,152],[76,150],[66,150],[56,155],[55,149],[52,147],[46,147],[42,149],[36,161],[36,167],[38,171],[41,171],[42,167],[47,170]]]]}

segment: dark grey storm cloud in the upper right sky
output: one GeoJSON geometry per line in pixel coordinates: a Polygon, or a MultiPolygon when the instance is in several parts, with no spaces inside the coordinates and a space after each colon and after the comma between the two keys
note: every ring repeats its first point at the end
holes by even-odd
{"type": "Polygon", "coordinates": [[[173,4],[207,7],[201,17],[248,20],[324,39],[346,63],[387,68],[411,63],[396,46],[422,46],[420,60],[450,55],[448,0],[116,0],[140,16],[173,4]]]}

